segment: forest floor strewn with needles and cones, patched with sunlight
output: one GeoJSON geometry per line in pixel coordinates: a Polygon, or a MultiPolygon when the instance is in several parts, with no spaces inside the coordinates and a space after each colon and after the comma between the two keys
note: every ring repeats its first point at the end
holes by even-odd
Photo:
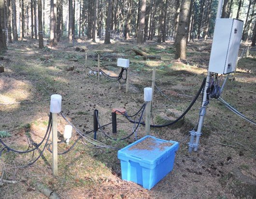
{"type": "MultiPolygon", "coordinates": [[[[103,77],[86,76],[85,52],[63,40],[52,49],[38,49],[37,41],[26,39],[12,43],[0,61],[5,72],[0,73],[0,136],[10,146],[26,150],[28,140],[39,143],[46,131],[50,96],[62,96],[62,112],[81,131],[93,129],[93,112],[99,110],[100,123],[111,122],[112,108],[126,108],[128,114],[136,113],[143,104],[143,88],[151,86],[153,67],[156,67],[156,88],[152,106],[153,122],[161,124],[163,118],[173,113],[183,113],[196,95],[207,73],[209,51],[197,51],[211,43],[196,41],[188,44],[187,60],[174,59],[173,42],[158,44],[149,41],[140,45],[149,55],[161,56],[161,60],[143,60],[131,50],[136,41],[116,40],[112,44],[91,43],[78,39],[75,46],[87,48],[88,66],[97,66],[97,53],[101,54],[101,69],[118,75],[116,58],[130,59],[131,81],[128,94],[125,85],[119,90],[118,83],[103,77]],[[75,58],[73,62],[69,59],[75,58]],[[74,66],[73,71],[67,67],[74,66]]],[[[245,45],[241,46],[246,48],[245,45]]],[[[252,120],[256,120],[256,51],[241,58],[237,72],[229,77],[222,94],[232,106],[252,120]]],[[[95,68],[97,69],[97,68],[95,68]]],[[[220,77],[220,84],[224,77],[220,77]]],[[[212,99],[200,138],[199,151],[188,153],[189,130],[196,127],[200,98],[186,114],[181,126],[151,128],[151,135],[164,140],[178,141],[173,170],[151,190],[121,179],[117,150],[98,148],[79,141],[67,154],[58,156],[58,177],[52,175],[51,153],[46,150],[31,167],[28,163],[35,154],[17,155],[3,151],[0,157],[2,178],[18,181],[17,184],[0,185],[0,198],[46,198],[36,188],[38,183],[57,192],[63,199],[205,199],[256,197],[256,128],[230,112],[221,102],[212,99]]],[[[172,118],[173,119],[173,118],[172,118]]],[[[143,119],[144,120],[144,119],[143,119]]],[[[63,133],[67,123],[59,115],[58,131],[63,133]]],[[[132,132],[133,124],[125,117],[117,116],[117,138],[132,132]]],[[[111,126],[105,128],[109,135],[111,126]]],[[[89,134],[93,137],[93,134],[89,134]]],[[[137,137],[145,136],[144,126],[137,137]]],[[[71,143],[77,138],[73,131],[71,143]]],[[[125,141],[111,141],[102,133],[97,139],[106,144],[124,147],[134,142],[134,136],[125,141]]],[[[51,140],[51,138],[50,138],[51,140]]],[[[59,144],[59,151],[69,148],[59,144]]]]}

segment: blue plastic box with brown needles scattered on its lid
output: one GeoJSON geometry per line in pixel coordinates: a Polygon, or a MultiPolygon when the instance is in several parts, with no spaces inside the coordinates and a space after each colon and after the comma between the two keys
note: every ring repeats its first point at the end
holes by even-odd
{"type": "Polygon", "coordinates": [[[122,179],[151,189],[173,169],[175,152],[178,148],[178,142],[160,140],[153,136],[145,136],[129,144],[117,153],[121,161],[122,179]],[[135,144],[147,138],[151,138],[147,140],[151,141],[150,143],[155,143],[152,146],[149,144],[148,147],[136,148],[139,145],[135,144]],[[168,142],[172,145],[170,146],[168,142]]]}

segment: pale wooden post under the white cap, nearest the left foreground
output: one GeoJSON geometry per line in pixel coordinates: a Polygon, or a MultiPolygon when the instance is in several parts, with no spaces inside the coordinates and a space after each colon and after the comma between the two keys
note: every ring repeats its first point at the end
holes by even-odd
{"type": "Polygon", "coordinates": [[[58,175],[58,134],[57,134],[57,114],[52,114],[52,128],[53,128],[53,175],[58,175]]]}

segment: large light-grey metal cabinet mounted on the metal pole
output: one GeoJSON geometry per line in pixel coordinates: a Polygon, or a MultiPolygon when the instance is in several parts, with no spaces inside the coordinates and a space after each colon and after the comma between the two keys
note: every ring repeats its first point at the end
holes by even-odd
{"type": "Polygon", "coordinates": [[[236,70],[243,21],[216,19],[208,71],[228,74],[236,70]]]}

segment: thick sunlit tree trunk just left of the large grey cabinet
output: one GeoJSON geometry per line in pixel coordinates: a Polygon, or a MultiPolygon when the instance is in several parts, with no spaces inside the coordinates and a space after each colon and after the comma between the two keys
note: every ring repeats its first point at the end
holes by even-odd
{"type": "Polygon", "coordinates": [[[189,22],[190,0],[182,0],[179,26],[175,38],[175,58],[186,59],[187,27],[189,22]]]}

